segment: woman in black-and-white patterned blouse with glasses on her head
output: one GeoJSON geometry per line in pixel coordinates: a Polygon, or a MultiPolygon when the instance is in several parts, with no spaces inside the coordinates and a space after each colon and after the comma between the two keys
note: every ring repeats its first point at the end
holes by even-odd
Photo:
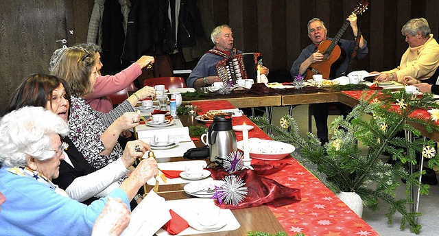
{"type": "MultiPolygon", "coordinates": [[[[109,113],[94,110],[84,97],[93,91],[99,76],[97,59],[94,51],[69,47],[61,52],[51,75],[65,80],[70,88],[69,138],[88,163],[100,169],[121,156],[122,148],[117,142],[119,135],[140,122],[140,115],[133,107],[139,99],[154,97],[155,91],[152,87],[144,87],[109,113]]],[[[67,118],[67,113],[64,115],[67,118]]]]}

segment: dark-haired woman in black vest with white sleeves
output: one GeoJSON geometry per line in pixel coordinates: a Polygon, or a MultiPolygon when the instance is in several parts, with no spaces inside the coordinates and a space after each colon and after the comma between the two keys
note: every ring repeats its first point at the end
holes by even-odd
{"type": "MultiPolygon", "coordinates": [[[[65,123],[69,117],[69,87],[64,80],[54,75],[29,75],[16,89],[8,110],[18,110],[24,106],[40,106],[51,110],[65,123]]],[[[108,196],[119,187],[117,180],[125,176],[137,157],[151,150],[150,145],[143,141],[131,141],[125,147],[121,158],[95,169],[86,161],[81,152],[68,136],[62,139],[64,159],[60,162],[59,176],[54,184],[64,189],[79,202],[90,204],[99,197],[108,196]],[[136,147],[141,152],[136,152],[136,147]]],[[[139,198],[139,196],[137,196],[139,198]]]]}

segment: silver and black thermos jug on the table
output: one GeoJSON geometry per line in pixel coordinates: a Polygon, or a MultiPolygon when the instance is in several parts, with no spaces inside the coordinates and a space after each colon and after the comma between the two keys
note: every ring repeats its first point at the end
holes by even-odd
{"type": "Polygon", "coordinates": [[[213,123],[209,126],[209,132],[203,134],[201,141],[209,145],[210,161],[219,161],[228,156],[230,152],[237,150],[235,131],[232,129],[232,117],[230,115],[215,115],[213,123]],[[206,137],[206,141],[204,141],[206,137]]]}

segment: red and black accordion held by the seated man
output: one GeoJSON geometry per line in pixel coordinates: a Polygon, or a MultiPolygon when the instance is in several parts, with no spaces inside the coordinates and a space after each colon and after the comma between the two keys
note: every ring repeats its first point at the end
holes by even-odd
{"type": "Polygon", "coordinates": [[[257,82],[257,66],[262,67],[262,54],[259,52],[236,54],[217,63],[217,74],[224,84],[235,84],[239,79],[253,79],[257,82]]]}

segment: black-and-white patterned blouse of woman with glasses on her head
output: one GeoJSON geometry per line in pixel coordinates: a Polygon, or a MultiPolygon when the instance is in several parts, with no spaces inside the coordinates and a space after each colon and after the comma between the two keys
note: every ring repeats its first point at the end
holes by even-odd
{"type": "Polygon", "coordinates": [[[116,142],[110,155],[99,155],[105,150],[101,135],[118,117],[133,112],[130,102],[125,101],[109,113],[100,113],[89,106],[82,97],[71,96],[69,116],[69,138],[96,169],[100,169],[122,155],[122,147],[116,142]]]}

